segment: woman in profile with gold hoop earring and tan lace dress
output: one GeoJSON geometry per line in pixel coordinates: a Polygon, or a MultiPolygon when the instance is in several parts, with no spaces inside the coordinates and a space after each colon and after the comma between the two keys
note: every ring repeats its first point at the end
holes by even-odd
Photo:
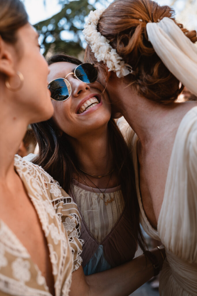
{"type": "Polygon", "coordinates": [[[38,34],[28,22],[24,5],[19,0],[1,0],[1,296],[67,296],[72,270],[81,264],[77,206],[43,169],[14,156],[27,125],[53,115],[48,73],[38,34]],[[54,210],[51,203],[57,196],[64,200],[74,238],[68,238],[71,231],[65,232],[56,214],[60,208],[54,210]]]}

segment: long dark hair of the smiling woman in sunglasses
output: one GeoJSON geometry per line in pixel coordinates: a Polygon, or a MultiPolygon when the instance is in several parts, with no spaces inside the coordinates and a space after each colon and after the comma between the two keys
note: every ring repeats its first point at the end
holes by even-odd
{"type": "MultiPolygon", "coordinates": [[[[82,62],[65,54],[56,54],[48,60],[48,64],[56,62],[71,62],[80,65],[82,62]]],[[[71,189],[72,179],[76,173],[77,156],[69,143],[66,134],[59,136],[58,128],[51,118],[47,121],[32,124],[39,146],[39,154],[33,163],[46,170],[66,192],[71,189]]],[[[130,216],[133,237],[144,250],[144,239],[139,225],[139,204],[137,200],[134,168],[126,142],[115,121],[108,122],[109,143],[111,145],[114,168],[118,173],[118,181],[125,200],[126,210],[130,216]]]]}

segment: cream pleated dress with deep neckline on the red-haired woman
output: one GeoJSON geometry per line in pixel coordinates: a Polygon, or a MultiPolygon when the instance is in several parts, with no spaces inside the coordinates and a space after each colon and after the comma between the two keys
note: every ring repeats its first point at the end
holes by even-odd
{"type": "Polygon", "coordinates": [[[157,230],[146,218],[139,190],[138,137],[125,123],[118,125],[132,149],[140,220],[149,236],[160,240],[167,259],[159,281],[162,296],[197,295],[197,107],[183,117],[170,157],[157,230]]]}

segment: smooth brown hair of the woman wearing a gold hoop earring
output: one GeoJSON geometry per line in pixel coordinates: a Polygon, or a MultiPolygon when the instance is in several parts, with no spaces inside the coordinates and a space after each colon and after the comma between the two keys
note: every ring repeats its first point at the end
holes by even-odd
{"type": "Polygon", "coordinates": [[[28,22],[28,15],[20,0],[0,1],[0,36],[11,44],[17,41],[17,30],[28,22]]]}

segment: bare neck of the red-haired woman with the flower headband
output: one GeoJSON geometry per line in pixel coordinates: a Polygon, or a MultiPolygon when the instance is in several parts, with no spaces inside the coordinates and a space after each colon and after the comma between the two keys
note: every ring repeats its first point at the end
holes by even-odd
{"type": "Polygon", "coordinates": [[[178,103],[159,104],[140,96],[129,87],[118,88],[118,94],[118,110],[138,135],[143,147],[165,133],[170,112],[173,112],[178,103]]]}

